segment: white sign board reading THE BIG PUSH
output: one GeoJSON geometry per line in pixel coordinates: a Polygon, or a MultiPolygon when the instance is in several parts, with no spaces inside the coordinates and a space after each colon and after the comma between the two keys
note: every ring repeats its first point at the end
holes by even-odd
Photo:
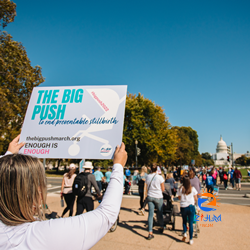
{"type": "Polygon", "coordinates": [[[33,89],[20,150],[39,158],[111,159],[122,142],[127,86],[33,89]]]}

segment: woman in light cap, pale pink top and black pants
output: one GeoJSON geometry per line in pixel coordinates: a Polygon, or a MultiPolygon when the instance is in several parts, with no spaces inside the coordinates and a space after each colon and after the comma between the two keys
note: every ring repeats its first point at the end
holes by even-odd
{"type": "Polygon", "coordinates": [[[73,215],[73,208],[75,203],[75,195],[72,192],[72,185],[75,180],[76,166],[74,163],[69,165],[69,172],[63,175],[61,186],[61,199],[64,198],[67,207],[63,210],[62,217],[69,211],[69,216],[73,215]]]}

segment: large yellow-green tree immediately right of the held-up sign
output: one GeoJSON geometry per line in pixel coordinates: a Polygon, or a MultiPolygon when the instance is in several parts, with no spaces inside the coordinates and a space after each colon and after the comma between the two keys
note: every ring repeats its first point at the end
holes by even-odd
{"type": "Polygon", "coordinates": [[[162,107],[140,93],[126,99],[123,141],[128,152],[128,164],[135,164],[135,141],[141,154],[139,165],[167,162],[176,150],[177,137],[162,107]]]}

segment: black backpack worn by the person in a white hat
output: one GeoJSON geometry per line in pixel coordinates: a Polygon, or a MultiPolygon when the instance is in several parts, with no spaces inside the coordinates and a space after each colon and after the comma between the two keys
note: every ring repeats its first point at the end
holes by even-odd
{"type": "Polygon", "coordinates": [[[88,192],[88,175],[90,173],[80,173],[76,176],[72,185],[72,192],[78,197],[83,197],[88,192]]]}

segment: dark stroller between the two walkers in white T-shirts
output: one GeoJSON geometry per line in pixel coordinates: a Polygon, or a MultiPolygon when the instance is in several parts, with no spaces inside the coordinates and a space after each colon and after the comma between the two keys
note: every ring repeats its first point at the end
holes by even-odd
{"type": "MultiPolygon", "coordinates": [[[[175,229],[175,216],[178,214],[178,207],[177,205],[173,205],[171,196],[171,187],[169,183],[165,183],[165,191],[162,192],[163,194],[163,223],[164,226],[167,224],[172,225],[172,230],[175,229]]],[[[154,221],[158,223],[157,216],[154,218],[154,221]]]]}

